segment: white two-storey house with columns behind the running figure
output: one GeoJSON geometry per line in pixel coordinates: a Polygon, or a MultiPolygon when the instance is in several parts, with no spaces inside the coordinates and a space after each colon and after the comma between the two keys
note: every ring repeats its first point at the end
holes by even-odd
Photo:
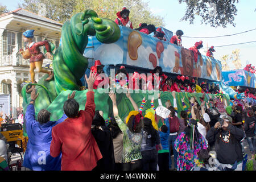
{"type": "MultiPolygon", "coordinates": [[[[22,111],[20,84],[30,81],[29,60],[24,60],[19,54],[19,49],[25,49],[26,46],[22,33],[33,29],[35,42],[47,39],[55,44],[56,49],[59,46],[61,27],[59,22],[22,8],[0,15],[0,94],[11,96],[10,111],[6,114],[13,113],[16,118],[22,111]]],[[[45,59],[43,66],[51,62],[45,59]]],[[[35,70],[36,81],[43,75],[35,70]]]]}

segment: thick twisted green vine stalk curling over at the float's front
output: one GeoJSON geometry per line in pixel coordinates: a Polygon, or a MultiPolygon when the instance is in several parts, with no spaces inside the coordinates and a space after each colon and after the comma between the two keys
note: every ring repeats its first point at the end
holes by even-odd
{"type": "Polygon", "coordinates": [[[80,79],[88,67],[88,59],[83,56],[88,35],[96,35],[102,43],[113,43],[119,39],[120,30],[113,20],[98,18],[93,10],[77,13],[63,24],[61,46],[53,59],[57,94],[63,90],[80,90],[80,79]]]}

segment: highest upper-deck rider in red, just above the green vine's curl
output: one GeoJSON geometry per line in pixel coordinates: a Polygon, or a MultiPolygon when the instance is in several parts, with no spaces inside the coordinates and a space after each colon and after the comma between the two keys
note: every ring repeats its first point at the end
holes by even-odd
{"type": "Polygon", "coordinates": [[[117,12],[117,19],[115,19],[115,23],[117,23],[119,26],[125,26],[133,29],[133,24],[129,19],[129,14],[130,11],[127,10],[126,7],[123,7],[122,11],[117,12]]]}

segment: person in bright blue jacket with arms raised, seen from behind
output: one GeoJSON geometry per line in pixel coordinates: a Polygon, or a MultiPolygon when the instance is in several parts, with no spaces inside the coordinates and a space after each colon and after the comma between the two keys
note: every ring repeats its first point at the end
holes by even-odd
{"type": "MultiPolygon", "coordinates": [[[[42,109],[39,111],[38,121],[36,121],[34,103],[37,97],[38,94],[36,95],[36,89],[34,88],[25,115],[28,143],[23,166],[33,171],[60,171],[61,154],[57,158],[52,158],[50,155],[52,127],[63,122],[67,115],[63,114],[63,117],[58,121],[49,121],[51,113],[42,109]]],[[[68,95],[68,99],[74,97],[75,92],[71,96],[68,95]]]]}

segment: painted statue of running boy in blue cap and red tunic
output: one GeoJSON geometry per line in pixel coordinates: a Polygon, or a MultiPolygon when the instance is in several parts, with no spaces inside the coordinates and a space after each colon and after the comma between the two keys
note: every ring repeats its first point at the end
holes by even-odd
{"type": "MultiPolygon", "coordinates": [[[[51,59],[51,46],[48,43],[48,40],[44,40],[41,42],[34,42],[32,39],[34,38],[34,31],[35,30],[27,30],[23,32],[23,42],[27,42],[26,51],[23,49],[19,49],[20,54],[22,54],[24,59],[30,58],[30,76],[32,84],[35,84],[35,72],[36,69],[38,72],[47,73],[49,76],[45,79],[45,81],[50,81],[53,78],[53,72],[48,71],[42,67],[43,60],[45,59],[42,52],[40,52],[40,47],[45,46],[47,53],[46,56],[48,59],[51,59]],[[29,53],[27,52],[27,49],[29,53]],[[24,56],[27,56],[26,58],[24,56]]],[[[30,93],[35,88],[35,85],[32,85],[30,89],[27,89],[26,92],[30,93]]]]}

